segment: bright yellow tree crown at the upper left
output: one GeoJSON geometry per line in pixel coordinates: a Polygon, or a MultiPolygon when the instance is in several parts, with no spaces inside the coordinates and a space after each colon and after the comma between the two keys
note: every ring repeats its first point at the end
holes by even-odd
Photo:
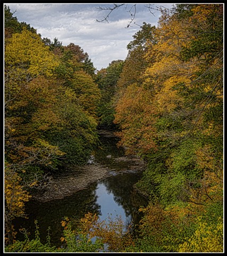
{"type": "Polygon", "coordinates": [[[39,75],[51,76],[57,65],[37,34],[23,30],[6,39],[5,107],[23,92],[29,81],[39,75]]]}

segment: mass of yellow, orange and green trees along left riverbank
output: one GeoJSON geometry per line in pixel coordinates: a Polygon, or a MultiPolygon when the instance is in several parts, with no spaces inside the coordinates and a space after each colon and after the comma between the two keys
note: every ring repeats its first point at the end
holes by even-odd
{"type": "Polygon", "coordinates": [[[11,244],[12,220],[24,216],[34,189],[48,186],[48,173],[89,158],[100,92],[79,46],[48,45],[6,6],[5,32],[5,242],[11,244]]]}

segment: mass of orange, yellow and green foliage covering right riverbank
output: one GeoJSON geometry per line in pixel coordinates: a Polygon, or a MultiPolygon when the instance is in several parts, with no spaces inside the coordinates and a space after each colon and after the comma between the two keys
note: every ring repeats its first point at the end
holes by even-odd
{"type": "Polygon", "coordinates": [[[137,187],[153,203],[142,210],[147,242],[139,246],[150,252],[221,252],[223,5],[164,9],[150,33],[152,40],[135,37],[129,44],[134,47],[118,83],[114,120],[120,144],[148,163],[137,187]],[[138,66],[137,78],[127,79],[141,42],[144,69],[138,66]]]}

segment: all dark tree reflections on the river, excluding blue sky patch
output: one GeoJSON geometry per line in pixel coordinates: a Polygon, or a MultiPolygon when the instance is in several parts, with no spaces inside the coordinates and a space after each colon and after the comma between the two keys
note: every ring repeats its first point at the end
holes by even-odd
{"type": "MultiPolygon", "coordinates": [[[[102,144],[96,150],[96,161],[107,165],[108,167],[115,168],[116,170],[122,170],[125,168],[125,164],[122,162],[114,162],[114,157],[121,157],[124,155],[124,151],[121,148],[116,147],[117,138],[114,137],[101,137],[102,144]],[[111,155],[111,158],[107,158],[107,155],[111,155]]],[[[61,175],[69,175],[64,173],[61,175]]],[[[58,177],[60,178],[60,177],[58,177]]],[[[125,211],[127,221],[132,219],[133,223],[138,223],[140,216],[138,209],[141,205],[146,205],[146,200],[141,197],[136,191],[133,190],[133,185],[139,179],[139,176],[132,173],[116,175],[107,178],[103,181],[108,192],[114,196],[114,201],[125,211]]],[[[65,197],[63,199],[53,200],[46,203],[30,201],[26,206],[26,213],[29,219],[16,218],[14,220],[14,226],[16,231],[20,227],[28,229],[31,233],[30,239],[35,234],[34,221],[38,220],[39,233],[41,242],[46,242],[47,229],[51,227],[51,243],[56,246],[61,245],[61,234],[63,227],[61,221],[64,217],[70,219],[79,220],[88,212],[96,213],[100,215],[100,205],[97,204],[96,195],[97,183],[89,185],[88,188],[78,191],[72,196],[65,197]]],[[[130,223],[125,223],[129,226],[130,223]]],[[[18,232],[18,239],[24,239],[23,235],[18,232]]]]}

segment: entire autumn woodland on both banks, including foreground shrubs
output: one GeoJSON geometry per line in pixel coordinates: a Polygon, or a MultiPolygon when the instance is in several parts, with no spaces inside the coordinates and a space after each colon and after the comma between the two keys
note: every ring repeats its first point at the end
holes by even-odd
{"type": "Polygon", "coordinates": [[[124,61],[98,71],[79,45],[42,38],[5,6],[4,58],[6,252],[223,252],[222,4],[162,10],[124,61]],[[100,128],[147,163],[138,231],[87,213],[62,221],[62,248],[42,244],[38,225],[17,241],[12,220],[33,191],[85,164],[100,128]]]}

